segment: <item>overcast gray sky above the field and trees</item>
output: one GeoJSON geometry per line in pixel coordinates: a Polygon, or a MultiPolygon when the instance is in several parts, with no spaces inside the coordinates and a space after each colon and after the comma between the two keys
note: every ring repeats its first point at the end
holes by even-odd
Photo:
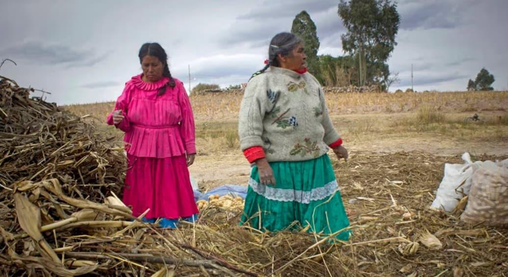
{"type": "MultiPolygon", "coordinates": [[[[160,43],[170,70],[188,88],[245,82],[261,69],[270,39],[289,32],[306,10],[317,27],[319,54],[343,55],[339,1],[15,1],[0,2],[0,75],[52,93],[58,104],[115,100],[141,68],[138,51],[160,43]],[[149,3],[149,4],[148,4],[149,3]]],[[[404,0],[388,63],[417,90],[465,90],[485,67],[495,89],[508,87],[507,0],[404,0]]]]}

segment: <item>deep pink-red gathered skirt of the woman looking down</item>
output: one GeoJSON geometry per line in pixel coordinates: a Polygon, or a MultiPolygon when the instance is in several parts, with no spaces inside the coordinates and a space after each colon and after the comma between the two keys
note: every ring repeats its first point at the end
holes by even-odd
{"type": "Polygon", "coordinates": [[[143,158],[127,155],[123,203],[139,217],[179,219],[198,213],[185,155],[143,158]]]}

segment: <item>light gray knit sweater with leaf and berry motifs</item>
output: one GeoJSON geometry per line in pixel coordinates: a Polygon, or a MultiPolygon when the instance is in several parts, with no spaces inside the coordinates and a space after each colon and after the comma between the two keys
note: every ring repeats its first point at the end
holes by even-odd
{"type": "Polygon", "coordinates": [[[248,82],[238,134],[242,151],[262,146],[269,162],[321,157],[340,138],[314,76],[278,67],[248,82]]]}

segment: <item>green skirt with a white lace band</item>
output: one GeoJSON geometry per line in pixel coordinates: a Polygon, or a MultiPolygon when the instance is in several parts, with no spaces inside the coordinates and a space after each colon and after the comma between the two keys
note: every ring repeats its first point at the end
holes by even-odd
{"type": "MultiPolygon", "coordinates": [[[[258,168],[252,168],[240,225],[263,231],[309,226],[309,232],[322,235],[349,226],[328,155],[301,162],[272,162],[270,166],[275,186],[261,184],[258,168]]],[[[336,235],[342,240],[350,236],[348,230],[336,235]]]]}

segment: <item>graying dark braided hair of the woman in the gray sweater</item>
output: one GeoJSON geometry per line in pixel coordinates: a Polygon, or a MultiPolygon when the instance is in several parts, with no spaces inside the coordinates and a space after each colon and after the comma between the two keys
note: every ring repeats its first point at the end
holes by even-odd
{"type": "Polygon", "coordinates": [[[268,63],[262,70],[252,74],[252,77],[265,72],[270,66],[279,67],[278,54],[288,56],[302,42],[303,40],[295,34],[282,32],[275,35],[270,41],[270,46],[268,46],[268,63]]]}

